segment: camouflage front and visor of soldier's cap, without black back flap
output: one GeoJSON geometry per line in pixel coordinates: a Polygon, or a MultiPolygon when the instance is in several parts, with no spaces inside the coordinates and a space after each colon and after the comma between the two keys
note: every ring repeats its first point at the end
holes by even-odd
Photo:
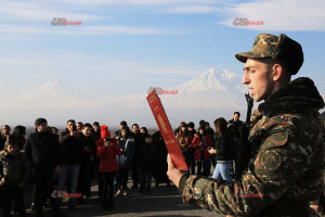
{"type": "Polygon", "coordinates": [[[260,34],[256,37],[250,52],[237,53],[238,61],[245,63],[247,58],[274,58],[282,35],[260,34]]]}

